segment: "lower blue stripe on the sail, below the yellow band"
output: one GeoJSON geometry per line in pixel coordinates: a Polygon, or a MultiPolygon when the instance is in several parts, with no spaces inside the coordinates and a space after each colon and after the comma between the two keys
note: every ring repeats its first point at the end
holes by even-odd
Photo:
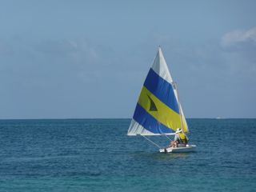
{"type": "Polygon", "coordinates": [[[137,103],[136,109],[134,111],[134,120],[142,125],[146,130],[154,134],[168,134],[174,133],[170,128],[162,125],[162,123],[158,122],[154,117],[144,110],[142,106],[137,103]]]}

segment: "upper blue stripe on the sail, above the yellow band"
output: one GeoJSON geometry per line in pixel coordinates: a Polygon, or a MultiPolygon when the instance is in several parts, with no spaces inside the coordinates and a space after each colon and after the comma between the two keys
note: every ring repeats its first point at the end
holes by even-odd
{"type": "Polygon", "coordinates": [[[150,90],[160,101],[169,106],[170,109],[179,114],[178,102],[174,95],[173,87],[165,79],[161,78],[157,73],[150,68],[144,82],[146,89],[150,90]]]}

